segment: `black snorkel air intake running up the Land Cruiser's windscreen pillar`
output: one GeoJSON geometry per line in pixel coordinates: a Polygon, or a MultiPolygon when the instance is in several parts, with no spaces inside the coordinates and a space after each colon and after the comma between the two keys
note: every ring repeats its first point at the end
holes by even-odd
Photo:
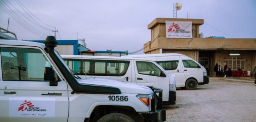
{"type": "Polygon", "coordinates": [[[60,58],[54,52],[55,46],[57,46],[58,42],[54,36],[47,36],[45,39],[45,51],[50,55],[53,59],[54,63],[59,68],[60,72],[63,74],[65,79],[67,80],[69,86],[72,88],[72,94],[74,93],[88,93],[88,94],[121,94],[120,89],[103,86],[103,85],[81,85],[77,82],[73,74],[69,72],[69,69],[63,64],[60,58]]]}

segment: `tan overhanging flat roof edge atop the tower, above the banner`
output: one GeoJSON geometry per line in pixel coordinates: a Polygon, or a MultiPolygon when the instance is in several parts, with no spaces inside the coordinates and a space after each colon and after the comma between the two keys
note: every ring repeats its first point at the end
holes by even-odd
{"type": "Polygon", "coordinates": [[[152,29],[159,23],[165,24],[165,21],[192,21],[192,24],[204,24],[204,19],[156,18],[150,24],[147,25],[147,28],[152,29]]]}

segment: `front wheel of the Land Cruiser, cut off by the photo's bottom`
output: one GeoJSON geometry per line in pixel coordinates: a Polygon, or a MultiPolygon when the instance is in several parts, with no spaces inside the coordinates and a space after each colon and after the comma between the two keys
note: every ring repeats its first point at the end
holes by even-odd
{"type": "Polygon", "coordinates": [[[135,122],[131,117],[121,113],[111,113],[99,118],[97,122],[135,122]]]}

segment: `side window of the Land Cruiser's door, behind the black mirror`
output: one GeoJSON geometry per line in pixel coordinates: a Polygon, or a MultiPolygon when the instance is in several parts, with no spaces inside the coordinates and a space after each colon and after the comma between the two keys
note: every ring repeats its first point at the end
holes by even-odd
{"type": "Polygon", "coordinates": [[[45,67],[51,67],[39,49],[7,47],[1,47],[1,65],[4,81],[44,81],[45,67]]]}

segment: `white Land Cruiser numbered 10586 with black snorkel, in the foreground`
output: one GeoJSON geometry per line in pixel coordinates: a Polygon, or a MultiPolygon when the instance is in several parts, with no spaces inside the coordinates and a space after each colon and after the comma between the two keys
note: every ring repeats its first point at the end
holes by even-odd
{"type": "Polygon", "coordinates": [[[0,40],[0,122],[165,121],[162,89],[76,79],[56,45],[0,40]]]}

